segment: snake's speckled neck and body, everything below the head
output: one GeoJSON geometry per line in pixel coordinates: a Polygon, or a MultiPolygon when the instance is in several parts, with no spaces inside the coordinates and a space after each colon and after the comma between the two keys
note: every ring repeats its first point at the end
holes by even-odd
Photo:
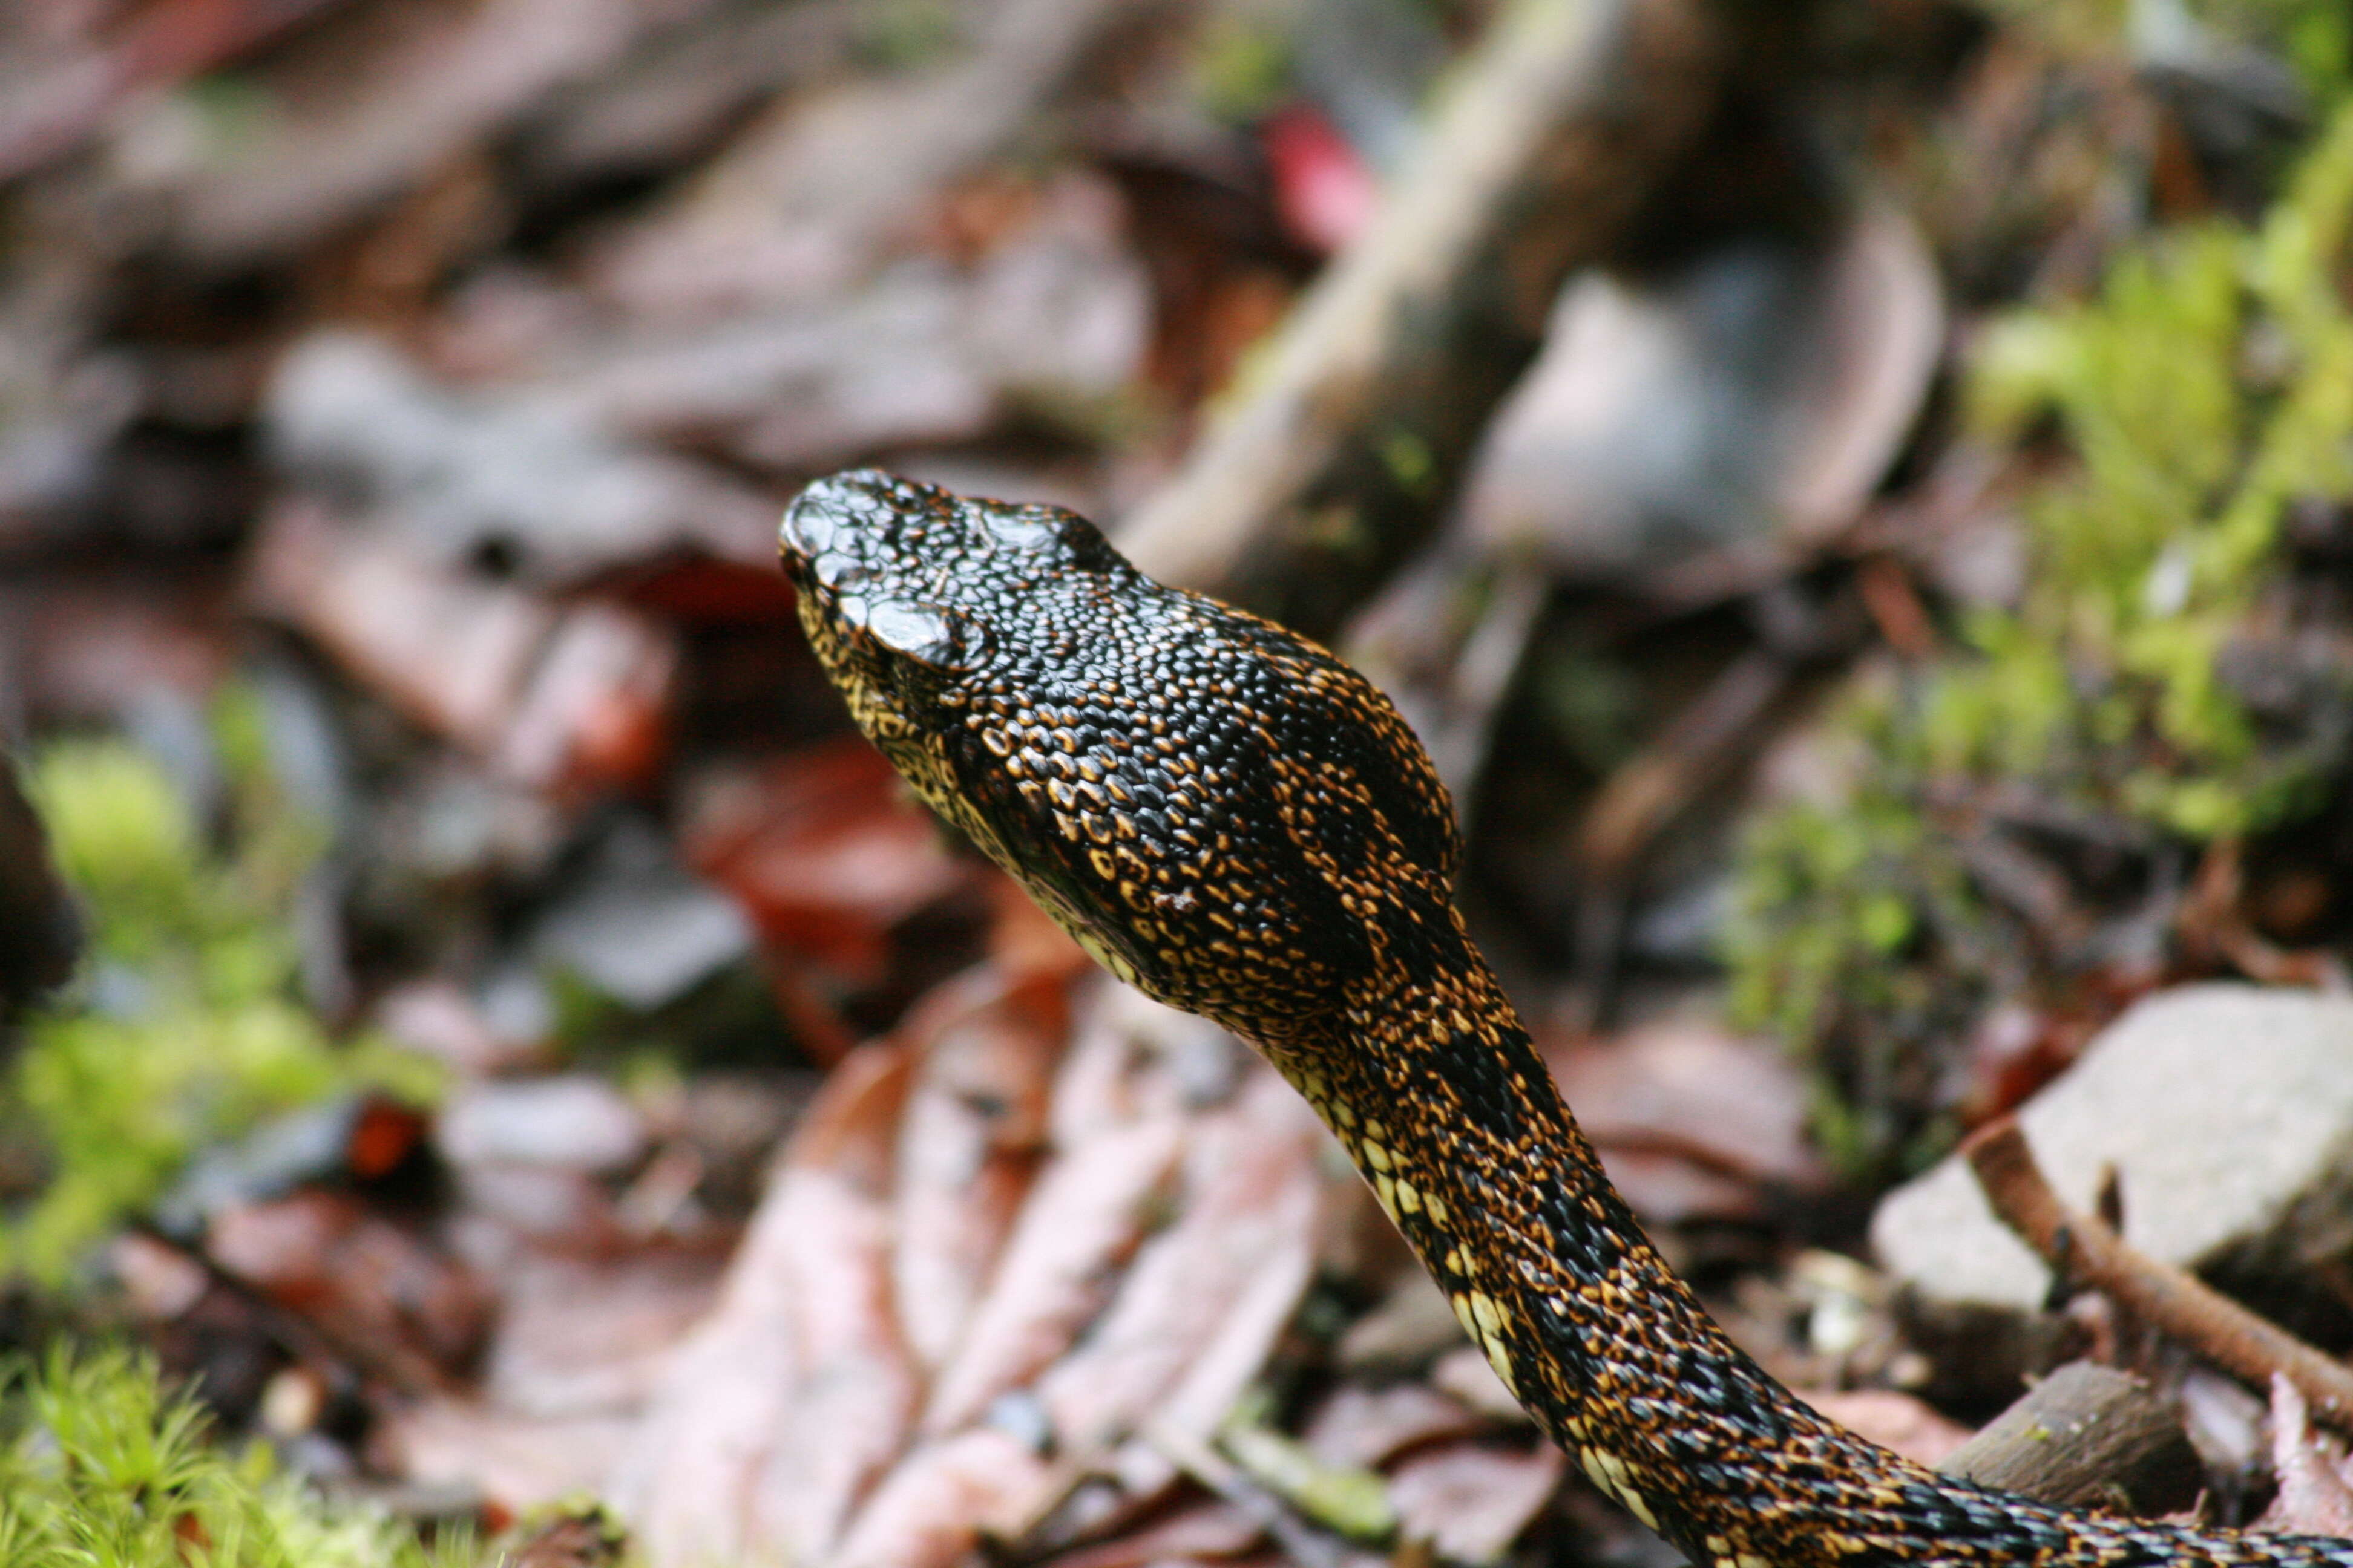
{"type": "Polygon", "coordinates": [[[1715,1326],[1609,1185],[1461,933],[1261,1039],[1464,1333],[1586,1476],[1706,1568],[2353,1568],[2353,1544],[2141,1526],[1939,1476],[1824,1420],[1715,1326]]]}

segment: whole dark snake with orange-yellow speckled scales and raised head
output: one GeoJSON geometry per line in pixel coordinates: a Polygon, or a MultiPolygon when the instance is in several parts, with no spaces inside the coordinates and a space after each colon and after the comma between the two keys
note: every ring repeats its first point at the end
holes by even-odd
{"type": "Polygon", "coordinates": [[[1318,644],[1155,583],[1085,517],[852,470],[784,512],[856,726],[1104,969],[1257,1046],[1464,1333],[1699,1568],[2353,1568],[2353,1540],[2085,1514],[1812,1410],[1642,1234],[1454,905],[1412,729],[1318,644]]]}

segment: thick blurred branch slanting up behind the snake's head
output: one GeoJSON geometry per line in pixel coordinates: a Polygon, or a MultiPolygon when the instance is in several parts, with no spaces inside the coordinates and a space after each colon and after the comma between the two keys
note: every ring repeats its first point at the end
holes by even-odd
{"type": "Polygon", "coordinates": [[[1329,632],[1435,522],[1560,282],[1697,139],[1729,49],[1706,0],[1518,0],[1374,230],[1122,531],[1134,562],[1329,632]]]}

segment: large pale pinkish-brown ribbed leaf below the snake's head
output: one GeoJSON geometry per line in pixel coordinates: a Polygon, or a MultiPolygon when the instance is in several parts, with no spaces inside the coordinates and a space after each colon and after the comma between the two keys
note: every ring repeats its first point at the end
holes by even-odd
{"type": "MultiPolygon", "coordinates": [[[[1344,1180],[1325,1171],[1322,1128],[1264,1065],[1235,1084],[1158,1037],[1158,1009],[1096,1006],[1049,1081],[1064,990],[1056,973],[972,971],[894,1034],[904,1103],[868,1088],[854,1114],[812,1112],[727,1305],[680,1352],[616,1490],[652,1561],[946,1561],[981,1533],[1031,1526],[1073,1455],[1146,1420],[1205,1441],[1261,1373],[1313,1274],[1322,1194],[1344,1180]],[[1186,1110],[1186,1084],[1217,1107],[1186,1110]],[[986,1180],[993,1161],[1047,1147],[1026,1194],[986,1180]],[[1007,1218],[991,1267],[988,1229],[1007,1218]],[[894,1220],[936,1232],[927,1246],[955,1241],[951,1222],[981,1239],[911,1260],[894,1220]],[[793,1237],[776,1234],[786,1225],[793,1237]],[[927,1441],[904,1450],[918,1373],[899,1324],[939,1305],[911,1288],[946,1279],[969,1300],[979,1269],[962,1331],[951,1312],[922,1328],[955,1347],[913,1429],[927,1441]],[[1031,1385],[1031,1408],[1061,1427],[1052,1472],[1031,1446],[1045,1432],[1016,1439],[986,1420],[1031,1385]]],[[[873,1079],[873,1051],[824,1098],[852,1093],[845,1074],[873,1079]]],[[[1132,1448],[1151,1460],[1139,1490],[1162,1490],[1174,1469],[1132,1448]]]]}

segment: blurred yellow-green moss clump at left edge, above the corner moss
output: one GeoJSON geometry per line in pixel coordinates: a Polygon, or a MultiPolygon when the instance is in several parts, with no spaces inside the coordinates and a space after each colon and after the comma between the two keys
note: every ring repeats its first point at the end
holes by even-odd
{"type": "Polygon", "coordinates": [[[216,719],[235,780],[226,858],[120,741],[61,741],[31,769],[92,929],[80,985],[26,1025],[0,1098],[47,1161],[0,1227],[0,1262],[47,1284],[198,1150],[339,1088],[433,1091],[431,1065],[379,1041],[336,1046],[296,1001],[292,900],[322,835],[271,788],[247,701],[226,698],[216,719]]]}

